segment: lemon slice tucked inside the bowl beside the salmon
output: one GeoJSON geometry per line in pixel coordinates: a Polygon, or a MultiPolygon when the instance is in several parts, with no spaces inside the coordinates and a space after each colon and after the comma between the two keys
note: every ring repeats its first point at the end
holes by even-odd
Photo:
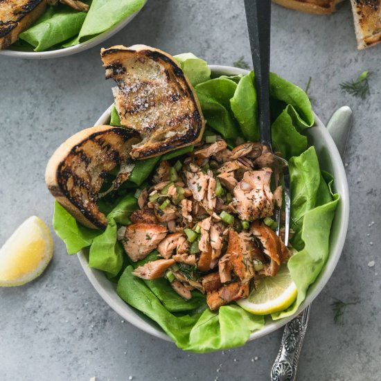
{"type": "Polygon", "coordinates": [[[246,299],[240,299],[237,303],[252,314],[272,314],[290,307],[297,294],[287,265],[282,265],[276,276],[263,278],[246,299]]]}

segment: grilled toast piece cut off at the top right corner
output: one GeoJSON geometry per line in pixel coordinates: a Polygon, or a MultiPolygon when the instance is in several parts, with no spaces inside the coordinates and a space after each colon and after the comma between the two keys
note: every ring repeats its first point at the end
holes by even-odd
{"type": "Polygon", "coordinates": [[[351,0],[357,48],[364,49],[381,41],[381,0],[351,0]]]}

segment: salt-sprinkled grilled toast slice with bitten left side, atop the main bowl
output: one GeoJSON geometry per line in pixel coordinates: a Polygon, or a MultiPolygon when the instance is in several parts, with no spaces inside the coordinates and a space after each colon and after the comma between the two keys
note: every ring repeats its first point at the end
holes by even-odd
{"type": "Polygon", "coordinates": [[[205,127],[200,103],[172,56],[145,45],[112,46],[100,55],[106,78],[118,85],[113,93],[121,124],[142,139],[132,148],[134,159],[200,142],[205,127]]]}

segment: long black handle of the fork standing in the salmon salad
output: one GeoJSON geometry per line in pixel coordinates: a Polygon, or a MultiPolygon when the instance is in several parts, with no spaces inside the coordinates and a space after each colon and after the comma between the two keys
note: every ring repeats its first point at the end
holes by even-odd
{"type": "Polygon", "coordinates": [[[272,148],[269,104],[271,0],[245,0],[261,143],[272,148]]]}

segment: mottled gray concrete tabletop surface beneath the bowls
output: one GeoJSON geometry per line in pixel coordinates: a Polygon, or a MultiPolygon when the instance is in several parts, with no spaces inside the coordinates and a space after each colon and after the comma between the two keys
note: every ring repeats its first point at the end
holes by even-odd
{"type": "MultiPolygon", "coordinates": [[[[241,55],[249,62],[245,22],[243,1],[151,0],[104,46],[143,43],[173,54],[192,51],[211,64],[230,65],[241,55]]],[[[322,121],[342,105],[355,113],[345,158],[348,237],[335,273],[313,303],[299,380],[380,380],[381,46],[357,51],[348,3],[328,17],[274,6],[272,25],[272,70],[301,87],[312,77],[310,94],[322,121]],[[368,99],[339,88],[366,69],[373,71],[368,99]],[[358,301],[348,306],[344,326],[333,321],[335,298],[358,301]]],[[[0,242],[30,215],[50,224],[48,157],[112,103],[99,48],[57,60],[0,56],[0,242]]],[[[67,256],[56,236],[54,244],[53,262],[37,281],[0,290],[1,381],[89,381],[94,375],[97,381],[130,375],[136,381],[269,380],[281,330],[223,353],[185,353],[121,321],[76,256],[67,256]]]]}

